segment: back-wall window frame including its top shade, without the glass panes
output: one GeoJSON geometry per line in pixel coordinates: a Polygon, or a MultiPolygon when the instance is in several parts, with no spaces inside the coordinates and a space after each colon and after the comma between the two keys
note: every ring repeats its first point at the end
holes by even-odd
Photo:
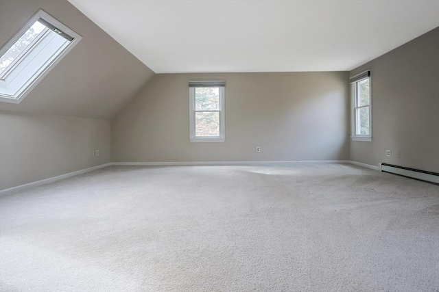
{"type": "Polygon", "coordinates": [[[225,86],[215,86],[218,82],[224,81],[190,81],[196,82],[197,86],[189,86],[189,141],[190,142],[224,142],[226,140],[226,121],[225,121],[225,86]],[[202,84],[205,83],[203,86],[202,84]],[[218,88],[219,93],[219,109],[218,110],[196,110],[195,109],[195,88],[218,88]],[[197,112],[219,112],[219,136],[200,137],[195,136],[195,114],[197,112]]]}

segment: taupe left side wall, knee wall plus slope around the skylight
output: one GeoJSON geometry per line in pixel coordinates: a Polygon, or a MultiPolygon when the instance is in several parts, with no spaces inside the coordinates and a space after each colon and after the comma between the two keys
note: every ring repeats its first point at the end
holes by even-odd
{"type": "Polygon", "coordinates": [[[39,8],[83,38],[19,105],[0,103],[0,189],[108,163],[110,118],[154,75],[67,0],[1,0],[0,46],[39,8]]]}

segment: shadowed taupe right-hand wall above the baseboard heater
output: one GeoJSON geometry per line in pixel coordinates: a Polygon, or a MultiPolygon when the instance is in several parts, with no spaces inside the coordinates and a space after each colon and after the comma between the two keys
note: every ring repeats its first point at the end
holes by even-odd
{"type": "Polygon", "coordinates": [[[439,172],[439,28],[351,76],[366,69],[372,70],[372,142],[351,142],[351,160],[439,172]]]}

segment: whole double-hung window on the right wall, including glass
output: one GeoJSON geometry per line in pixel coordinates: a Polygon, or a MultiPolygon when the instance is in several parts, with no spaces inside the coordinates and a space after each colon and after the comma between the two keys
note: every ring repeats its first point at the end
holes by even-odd
{"type": "Polygon", "coordinates": [[[370,71],[351,77],[352,140],[372,141],[372,98],[370,71]]]}

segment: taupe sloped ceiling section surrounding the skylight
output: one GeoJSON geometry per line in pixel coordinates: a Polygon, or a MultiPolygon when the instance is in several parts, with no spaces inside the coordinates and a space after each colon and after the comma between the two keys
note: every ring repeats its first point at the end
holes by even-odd
{"type": "Polygon", "coordinates": [[[0,46],[40,8],[83,38],[19,105],[1,110],[109,120],[154,75],[67,0],[0,0],[0,46]]]}

